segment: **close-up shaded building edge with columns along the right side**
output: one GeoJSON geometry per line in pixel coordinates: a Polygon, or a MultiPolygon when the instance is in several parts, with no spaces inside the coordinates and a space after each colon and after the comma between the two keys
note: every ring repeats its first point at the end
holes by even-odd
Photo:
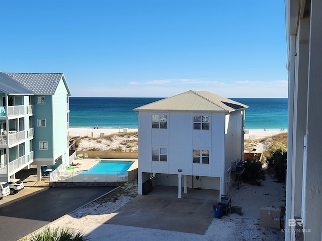
{"type": "Polygon", "coordinates": [[[288,140],[285,240],[322,240],[322,1],[285,0],[288,140]]]}

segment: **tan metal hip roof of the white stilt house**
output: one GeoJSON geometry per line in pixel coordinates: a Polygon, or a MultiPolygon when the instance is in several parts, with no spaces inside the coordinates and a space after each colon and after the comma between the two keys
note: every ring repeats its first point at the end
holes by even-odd
{"type": "Polygon", "coordinates": [[[208,91],[187,92],[149,103],[134,110],[190,110],[190,111],[234,111],[249,106],[221,97],[208,91]]]}

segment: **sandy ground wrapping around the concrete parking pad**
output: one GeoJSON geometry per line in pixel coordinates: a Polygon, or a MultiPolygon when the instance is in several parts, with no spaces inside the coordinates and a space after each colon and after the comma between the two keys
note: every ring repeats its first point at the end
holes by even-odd
{"type": "Polygon", "coordinates": [[[117,215],[116,210],[136,196],[137,181],[121,187],[120,191],[98,199],[60,219],[52,226],[68,226],[89,234],[91,240],[284,240],[280,229],[259,225],[260,207],[285,205],[285,185],[275,182],[267,174],[262,186],[243,183],[239,190],[232,186],[228,194],[232,205],[240,206],[243,215],[230,213],[220,219],[214,218],[205,234],[183,233],[159,229],[139,228],[123,225],[105,224],[117,215]]]}

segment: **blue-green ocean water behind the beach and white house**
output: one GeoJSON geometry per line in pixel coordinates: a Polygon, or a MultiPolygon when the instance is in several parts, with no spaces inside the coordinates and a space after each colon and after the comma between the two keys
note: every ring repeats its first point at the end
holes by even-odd
{"type": "MultiPolygon", "coordinates": [[[[70,97],[69,127],[138,128],[134,108],[163,98],[70,97]]],[[[245,129],[287,129],[287,98],[230,98],[246,104],[245,129]]]]}

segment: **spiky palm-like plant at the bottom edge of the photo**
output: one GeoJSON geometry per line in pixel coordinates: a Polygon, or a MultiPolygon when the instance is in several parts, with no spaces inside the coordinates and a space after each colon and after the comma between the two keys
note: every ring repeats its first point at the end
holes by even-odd
{"type": "Polygon", "coordinates": [[[74,232],[70,228],[46,227],[21,241],[86,241],[90,240],[83,232],[74,232]]]}

